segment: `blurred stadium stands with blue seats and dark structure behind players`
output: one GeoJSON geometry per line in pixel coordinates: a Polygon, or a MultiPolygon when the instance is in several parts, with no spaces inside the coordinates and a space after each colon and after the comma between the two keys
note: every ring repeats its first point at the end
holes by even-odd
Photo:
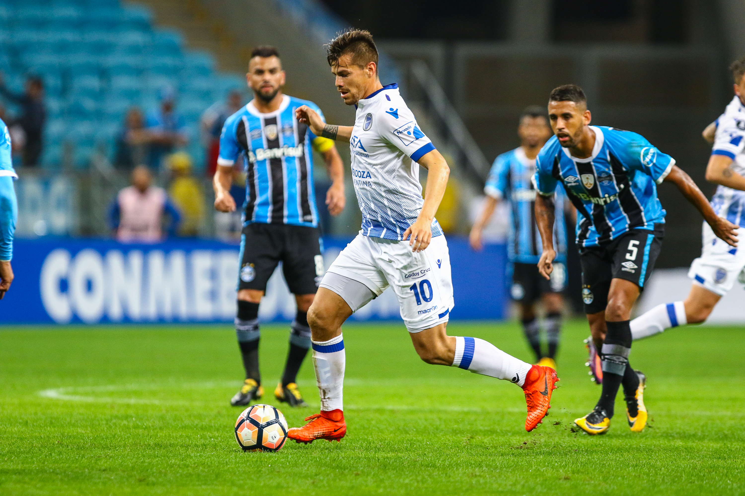
{"type": "MultiPolygon", "coordinates": [[[[113,138],[124,112],[155,108],[163,86],[177,90],[198,173],[200,116],[245,87],[255,45],[279,48],[288,94],[314,100],[332,123],[351,122],[322,45],[352,25],[373,32],[382,82],[399,83],[454,165],[438,212],[448,232],[467,232],[491,161],[517,144],[522,109],[542,105],[562,83],[586,89],[594,123],[640,132],[713,191],[700,132],[731,98],[726,66],[745,53],[741,1],[418,0],[391,8],[380,0],[0,0],[0,71],[13,91],[27,74],[42,76],[48,112],[42,167],[20,169],[19,236],[108,234],[106,206],[127,184],[111,166],[113,138]]],[[[348,150],[340,152],[348,163],[348,150]]],[[[168,179],[160,171],[160,183],[168,179]]],[[[347,189],[349,207],[327,217],[326,233],[358,230],[347,189]]],[[[668,227],[659,266],[687,266],[700,251],[700,217],[672,188],[661,197],[668,227]]],[[[497,238],[505,229],[498,217],[497,238]]],[[[206,216],[200,236],[214,233],[206,216]]]]}

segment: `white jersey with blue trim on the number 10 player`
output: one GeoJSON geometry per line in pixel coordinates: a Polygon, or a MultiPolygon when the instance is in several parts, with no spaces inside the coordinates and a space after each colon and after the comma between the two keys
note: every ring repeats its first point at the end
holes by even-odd
{"type": "MultiPolygon", "coordinates": [[[[424,204],[416,161],[432,150],[396,83],[358,102],[349,151],[364,236],[401,240],[416,222],[424,204]]],[[[442,233],[434,219],[432,236],[442,233]]]]}

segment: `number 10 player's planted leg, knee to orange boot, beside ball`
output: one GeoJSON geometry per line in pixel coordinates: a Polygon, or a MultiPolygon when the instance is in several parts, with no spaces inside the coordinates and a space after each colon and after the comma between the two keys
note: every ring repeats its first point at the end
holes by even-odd
{"type": "Polygon", "coordinates": [[[288,430],[296,442],[315,439],[340,440],[346,434],[343,413],[343,382],[346,354],[341,325],[352,315],[346,301],[330,289],[319,288],[308,309],[311,327],[313,364],[321,398],[320,413],[308,416],[308,423],[288,430]]]}

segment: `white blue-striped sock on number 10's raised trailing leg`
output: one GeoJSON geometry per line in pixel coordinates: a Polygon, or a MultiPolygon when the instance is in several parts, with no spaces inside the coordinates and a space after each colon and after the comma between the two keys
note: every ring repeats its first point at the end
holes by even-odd
{"type": "Polygon", "coordinates": [[[455,338],[455,358],[452,366],[515,382],[519,386],[525,384],[525,376],[530,367],[533,367],[512,355],[507,355],[489,341],[460,336],[455,338]]]}

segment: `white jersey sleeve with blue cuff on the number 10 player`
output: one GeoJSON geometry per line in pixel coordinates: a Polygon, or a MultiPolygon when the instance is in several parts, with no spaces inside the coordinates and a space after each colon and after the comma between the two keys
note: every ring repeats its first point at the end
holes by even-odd
{"type": "Polygon", "coordinates": [[[427,153],[434,150],[432,141],[419,129],[416,118],[408,106],[399,97],[390,102],[399,105],[389,106],[378,114],[378,132],[381,139],[396,146],[411,160],[417,162],[427,153]],[[394,108],[395,107],[395,108],[394,108]]]}

